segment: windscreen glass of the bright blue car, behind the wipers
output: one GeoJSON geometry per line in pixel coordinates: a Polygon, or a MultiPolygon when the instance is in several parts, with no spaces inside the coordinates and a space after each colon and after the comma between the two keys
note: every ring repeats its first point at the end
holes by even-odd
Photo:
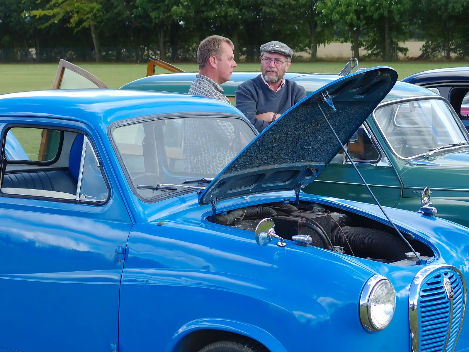
{"type": "Polygon", "coordinates": [[[247,121],[234,117],[164,118],[119,126],[112,133],[122,166],[144,198],[167,190],[139,186],[215,177],[255,136],[247,121]]]}

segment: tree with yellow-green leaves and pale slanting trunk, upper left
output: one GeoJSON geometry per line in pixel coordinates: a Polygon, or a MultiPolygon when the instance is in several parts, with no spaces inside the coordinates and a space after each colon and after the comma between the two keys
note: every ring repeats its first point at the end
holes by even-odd
{"type": "MultiPolygon", "coordinates": [[[[40,1],[40,0],[39,0],[40,1]]],[[[96,62],[101,61],[101,45],[98,36],[98,26],[105,22],[106,14],[103,9],[105,0],[48,0],[44,8],[33,10],[30,16],[48,16],[50,20],[42,28],[62,19],[68,20],[69,27],[75,31],[90,28],[93,39],[96,62]]]]}

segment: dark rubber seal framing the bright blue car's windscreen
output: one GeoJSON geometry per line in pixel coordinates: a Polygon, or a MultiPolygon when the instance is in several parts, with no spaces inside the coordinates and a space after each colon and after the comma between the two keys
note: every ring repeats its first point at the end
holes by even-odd
{"type": "Polygon", "coordinates": [[[144,197],[140,196],[138,194],[137,188],[134,187],[134,184],[132,182],[132,177],[130,176],[127,168],[125,167],[125,163],[124,163],[124,160],[121,156],[121,153],[119,152],[119,148],[117,147],[117,143],[114,141],[114,137],[113,137],[114,129],[116,129],[118,127],[123,127],[123,126],[127,126],[127,125],[134,125],[134,124],[144,123],[144,122],[165,120],[165,119],[171,119],[171,118],[174,119],[174,118],[190,118],[190,117],[236,118],[236,119],[242,120],[242,122],[244,122],[246,125],[248,125],[250,127],[251,131],[255,135],[255,138],[259,134],[257,132],[256,128],[254,127],[254,125],[252,125],[246,117],[243,117],[241,115],[234,114],[234,113],[218,113],[218,112],[182,112],[182,113],[175,112],[174,113],[173,112],[173,113],[167,113],[167,114],[155,114],[155,115],[147,115],[147,116],[140,116],[140,117],[132,117],[132,118],[128,118],[128,119],[125,119],[125,120],[120,120],[120,121],[113,122],[112,124],[107,126],[107,137],[109,138],[109,141],[110,141],[110,143],[113,147],[114,154],[115,154],[115,156],[117,157],[117,159],[119,161],[119,166],[121,167],[121,170],[122,170],[122,172],[123,172],[123,174],[126,178],[126,181],[127,181],[127,184],[129,186],[129,188],[131,189],[132,193],[139,200],[141,200],[142,202],[144,202],[144,203],[157,203],[159,201],[169,199],[169,198],[173,198],[175,196],[181,196],[181,195],[184,195],[186,193],[194,192],[195,189],[189,189],[189,188],[181,189],[181,190],[177,190],[177,191],[167,192],[166,194],[157,195],[157,196],[154,196],[152,198],[144,198],[144,197]]]}

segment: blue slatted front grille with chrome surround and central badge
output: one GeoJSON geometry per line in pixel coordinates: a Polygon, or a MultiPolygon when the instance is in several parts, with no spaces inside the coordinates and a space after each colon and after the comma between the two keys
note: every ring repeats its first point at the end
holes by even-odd
{"type": "Polygon", "coordinates": [[[409,290],[413,352],[452,352],[464,317],[466,284],[452,266],[428,266],[409,290]]]}

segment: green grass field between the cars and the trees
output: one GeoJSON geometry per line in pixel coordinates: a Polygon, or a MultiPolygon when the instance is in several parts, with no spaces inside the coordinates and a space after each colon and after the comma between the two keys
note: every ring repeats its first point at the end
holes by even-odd
{"type": "MultiPolygon", "coordinates": [[[[344,67],[342,62],[318,62],[318,63],[292,63],[290,71],[297,72],[339,72],[344,67]]],[[[362,62],[360,66],[373,67],[383,65],[381,62],[362,62]]],[[[416,72],[443,67],[467,66],[464,62],[395,62],[387,63],[399,74],[399,79],[416,72]]],[[[129,63],[78,63],[78,66],[88,70],[101,79],[110,88],[119,88],[137,78],[142,78],[146,73],[146,64],[129,63]]],[[[176,63],[176,66],[185,71],[196,71],[197,64],[176,63]]],[[[258,71],[260,63],[240,63],[234,70],[258,71]]],[[[0,94],[40,90],[52,88],[56,63],[19,63],[0,64],[0,94]]],[[[160,69],[157,73],[166,71],[160,69]]]]}

